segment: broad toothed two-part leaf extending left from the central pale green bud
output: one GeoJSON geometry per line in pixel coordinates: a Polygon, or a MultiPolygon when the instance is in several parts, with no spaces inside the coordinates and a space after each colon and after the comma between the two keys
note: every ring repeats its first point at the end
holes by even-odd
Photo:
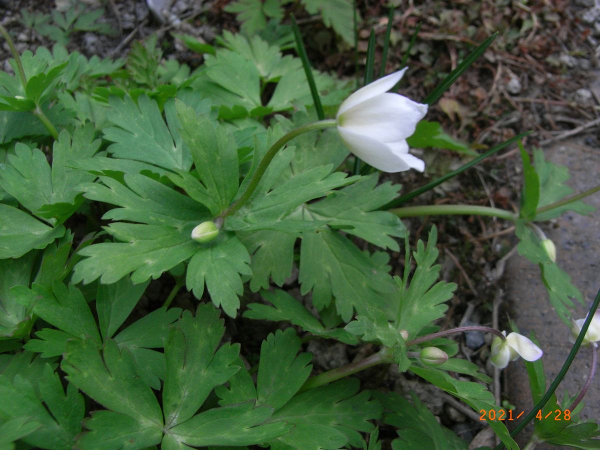
{"type": "Polygon", "coordinates": [[[104,186],[83,184],[82,190],[89,199],[121,206],[104,218],[144,224],[118,222],[106,227],[125,242],[101,242],[80,250],[89,258],[77,263],[75,283],[98,277],[102,283],[115,283],[130,272],[133,283],[142,283],[158,278],[200,247],[190,235],[194,226],[209,218],[202,205],[144,175],[125,175],[127,186],[109,177],[100,180],[104,186]]]}

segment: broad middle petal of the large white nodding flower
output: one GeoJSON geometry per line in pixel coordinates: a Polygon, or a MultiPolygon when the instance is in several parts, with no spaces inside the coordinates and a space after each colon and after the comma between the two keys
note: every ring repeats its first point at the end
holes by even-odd
{"type": "Polygon", "coordinates": [[[383,142],[406,139],[427,114],[427,105],[399,94],[384,93],[348,109],[338,117],[344,128],[383,142]]]}

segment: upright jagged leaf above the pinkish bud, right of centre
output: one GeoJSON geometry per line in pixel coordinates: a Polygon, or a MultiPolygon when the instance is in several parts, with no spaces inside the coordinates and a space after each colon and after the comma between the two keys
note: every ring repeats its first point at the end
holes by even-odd
{"type": "Polygon", "coordinates": [[[409,281],[409,273],[405,272],[403,280],[396,278],[400,285],[400,305],[397,314],[397,328],[406,329],[411,336],[430,322],[439,319],[448,309],[445,301],[452,298],[456,289],[455,283],[439,281],[442,266],[434,265],[439,252],[436,248],[437,229],[432,227],[427,247],[419,240],[417,250],[413,253],[416,269],[409,281]]]}

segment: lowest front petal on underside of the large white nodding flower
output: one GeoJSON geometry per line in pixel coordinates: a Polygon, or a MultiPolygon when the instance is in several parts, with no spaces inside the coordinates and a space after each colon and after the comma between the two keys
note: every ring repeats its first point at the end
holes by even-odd
{"type": "Polygon", "coordinates": [[[406,155],[395,153],[385,143],[343,127],[338,127],[338,132],[353,154],[376,169],[383,172],[403,172],[410,169],[409,164],[404,161],[406,155]]]}

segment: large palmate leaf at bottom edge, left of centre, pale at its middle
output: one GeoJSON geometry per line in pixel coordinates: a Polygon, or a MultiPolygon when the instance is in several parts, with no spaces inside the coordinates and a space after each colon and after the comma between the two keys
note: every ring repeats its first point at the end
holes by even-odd
{"type": "Polygon", "coordinates": [[[68,379],[107,410],[86,420],[80,435],[83,449],[163,448],[253,445],[275,439],[289,430],[284,422],[266,424],[269,406],[254,402],[194,413],[214,386],[226,382],[239,366],[239,346],[219,347],[223,320],[211,305],[185,313],[165,344],[167,378],[161,411],[152,390],[136,377],[133,359],[107,340],[104,350],[91,341],[70,341],[62,368],[68,379]],[[197,380],[202,380],[197,382],[197,380]],[[163,414],[167,418],[163,424],[163,414]]]}

